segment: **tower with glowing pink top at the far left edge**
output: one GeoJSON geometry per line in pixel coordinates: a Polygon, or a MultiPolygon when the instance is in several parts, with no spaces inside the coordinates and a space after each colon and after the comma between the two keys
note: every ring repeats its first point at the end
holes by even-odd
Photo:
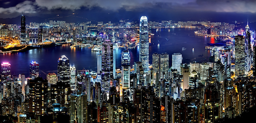
{"type": "Polygon", "coordinates": [[[1,64],[1,81],[11,78],[11,64],[9,62],[3,62],[1,64]]]}

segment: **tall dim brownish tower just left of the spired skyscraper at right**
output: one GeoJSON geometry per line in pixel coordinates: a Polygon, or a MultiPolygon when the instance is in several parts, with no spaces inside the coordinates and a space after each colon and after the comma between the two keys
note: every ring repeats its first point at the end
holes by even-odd
{"type": "Polygon", "coordinates": [[[235,40],[235,52],[236,52],[236,61],[234,63],[234,70],[237,77],[245,75],[245,37],[238,35],[234,38],[235,40]]]}

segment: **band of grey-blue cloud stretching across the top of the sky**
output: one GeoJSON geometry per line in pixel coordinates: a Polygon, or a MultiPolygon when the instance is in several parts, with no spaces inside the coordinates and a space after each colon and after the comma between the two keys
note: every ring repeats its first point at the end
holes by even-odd
{"type": "MultiPolygon", "coordinates": [[[[250,12],[256,13],[254,0],[2,0],[0,14],[45,13],[55,10],[103,10],[118,12],[162,9],[166,11],[250,12]],[[16,2],[16,4],[15,4],[16,2]],[[8,5],[3,6],[3,5],[8,5]],[[10,6],[12,5],[12,6],[10,6]],[[86,9],[85,9],[86,8],[86,9]]],[[[0,2],[0,4],[1,4],[0,2]]]]}

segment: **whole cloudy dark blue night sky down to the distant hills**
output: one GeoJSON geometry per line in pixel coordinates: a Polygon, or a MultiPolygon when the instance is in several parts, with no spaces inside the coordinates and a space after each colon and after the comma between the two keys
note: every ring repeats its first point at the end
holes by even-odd
{"type": "Polygon", "coordinates": [[[249,19],[255,22],[255,13],[254,0],[0,0],[0,18],[21,14],[44,19],[72,15],[96,21],[118,21],[138,20],[141,15],[146,15],[152,21],[246,22],[249,19]]]}

